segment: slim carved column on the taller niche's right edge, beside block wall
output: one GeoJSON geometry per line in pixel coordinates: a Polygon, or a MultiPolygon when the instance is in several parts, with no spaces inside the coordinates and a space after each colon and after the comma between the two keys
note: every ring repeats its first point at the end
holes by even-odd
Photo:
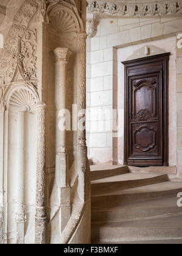
{"type": "MultiPolygon", "coordinates": [[[[86,111],[86,38],[87,35],[84,33],[78,34],[77,40],[77,52],[78,52],[78,63],[77,63],[77,99],[78,99],[78,113],[86,111]]],[[[78,117],[78,123],[83,118],[82,115],[78,117]]],[[[80,199],[86,201],[86,171],[87,171],[87,146],[86,146],[86,129],[80,129],[78,127],[78,194],[80,199]]]]}

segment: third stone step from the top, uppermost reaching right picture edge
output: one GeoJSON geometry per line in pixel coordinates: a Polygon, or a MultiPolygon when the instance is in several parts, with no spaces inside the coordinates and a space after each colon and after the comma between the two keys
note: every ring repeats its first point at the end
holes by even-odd
{"type": "Polygon", "coordinates": [[[126,190],[104,191],[99,196],[92,196],[92,208],[113,207],[130,202],[176,197],[179,192],[182,192],[182,182],[169,181],[126,190]]]}

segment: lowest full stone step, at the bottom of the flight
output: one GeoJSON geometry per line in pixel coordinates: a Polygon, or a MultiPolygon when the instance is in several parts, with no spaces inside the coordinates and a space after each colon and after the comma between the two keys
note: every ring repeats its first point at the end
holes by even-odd
{"type": "Polygon", "coordinates": [[[92,243],[182,240],[182,215],[92,225],[92,243]]]}

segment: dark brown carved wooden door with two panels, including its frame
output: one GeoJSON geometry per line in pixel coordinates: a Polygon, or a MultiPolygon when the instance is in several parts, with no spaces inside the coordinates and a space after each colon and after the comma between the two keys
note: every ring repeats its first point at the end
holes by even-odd
{"type": "Polygon", "coordinates": [[[168,165],[168,65],[160,54],[125,65],[124,165],[168,165]]]}

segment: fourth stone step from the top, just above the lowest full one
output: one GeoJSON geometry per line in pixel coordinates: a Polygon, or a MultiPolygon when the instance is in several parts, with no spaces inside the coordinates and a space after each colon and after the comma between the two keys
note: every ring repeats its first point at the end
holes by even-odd
{"type": "Polygon", "coordinates": [[[115,207],[96,208],[92,210],[92,224],[182,215],[182,207],[177,206],[177,201],[177,197],[172,197],[115,207]]]}

